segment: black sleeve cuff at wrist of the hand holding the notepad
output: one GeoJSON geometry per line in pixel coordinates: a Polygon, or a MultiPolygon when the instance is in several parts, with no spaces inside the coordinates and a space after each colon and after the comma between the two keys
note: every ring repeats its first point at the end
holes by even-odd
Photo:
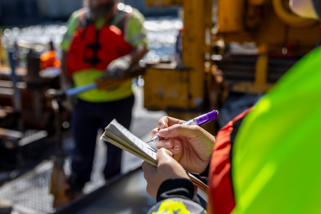
{"type": "Polygon", "coordinates": [[[156,196],[157,202],[174,197],[189,199],[200,204],[195,187],[187,178],[171,178],[160,184],[156,196]]]}

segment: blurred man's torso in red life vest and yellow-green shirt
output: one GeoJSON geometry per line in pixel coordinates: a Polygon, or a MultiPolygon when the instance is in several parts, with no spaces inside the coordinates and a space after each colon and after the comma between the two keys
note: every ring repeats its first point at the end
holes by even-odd
{"type": "MultiPolygon", "coordinates": [[[[110,17],[92,22],[88,9],[79,11],[76,31],[67,55],[67,73],[72,75],[74,86],[94,82],[104,75],[108,64],[130,53],[132,46],[124,38],[130,13],[115,8],[110,17]]],[[[131,80],[124,81],[112,90],[90,90],[78,95],[89,102],[108,102],[132,95],[131,80]]]]}

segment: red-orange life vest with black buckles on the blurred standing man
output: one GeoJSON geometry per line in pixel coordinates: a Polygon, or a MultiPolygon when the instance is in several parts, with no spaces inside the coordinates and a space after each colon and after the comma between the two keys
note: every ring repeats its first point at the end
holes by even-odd
{"type": "MultiPolygon", "coordinates": [[[[84,16],[82,13],[80,19],[84,16]]],[[[86,24],[74,34],[67,54],[67,74],[90,68],[103,72],[112,60],[129,54],[131,50],[132,46],[125,41],[122,30],[115,25],[105,24],[96,29],[94,23],[86,24]]]]}

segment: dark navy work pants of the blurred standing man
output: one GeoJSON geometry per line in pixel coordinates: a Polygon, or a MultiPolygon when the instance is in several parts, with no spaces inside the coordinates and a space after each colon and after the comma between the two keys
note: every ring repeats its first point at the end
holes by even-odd
{"type": "MultiPolygon", "coordinates": [[[[72,153],[72,174],[69,183],[73,189],[81,190],[90,181],[97,131],[103,130],[114,119],[129,128],[132,118],[134,95],[113,102],[92,103],[78,99],[72,118],[72,134],[75,148],[72,153]]],[[[122,150],[107,144],[107,163],[104,169],[105,178],[120,173],[122,150]]]]}

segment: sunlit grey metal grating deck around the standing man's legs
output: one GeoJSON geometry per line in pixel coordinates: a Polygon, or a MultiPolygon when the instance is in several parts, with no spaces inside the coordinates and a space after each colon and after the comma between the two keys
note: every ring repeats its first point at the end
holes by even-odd
{"type": "MultiPolygon", "coordinates": [[[[150,138],[152,128],[157,126],[157,122],[164,112],[148,112],[143,108],[143,93],[136,91],[135,106],[133,109],[133,119],[130,131],[143,141],[150,138]]],[[[99,137],[102,130],[97,135],[97,145],[93,162],[91,181],[84,187],[85,193],[91,193],[105,184],[102,169],[106,162],[106,145],[99,137]]],[[[68,139],[67,139],[68,140],[68,139]]],[[[70,141],[71,139],[69,139],[70,141]]],[[[124,151],[122,157],[122,173],[140,167],[143,160],[124,151]]],[[[47,214],[53,213],[53,196],[49,193],[50,175],[53,167],[51,160],[43,161],[32,171],[10,181],[0,187],[0,198],[8,199],[13,203],[15,214],[47,214]]],[[[65,172],[70,173],[70,159],[65,161],[65,172]]]]}

